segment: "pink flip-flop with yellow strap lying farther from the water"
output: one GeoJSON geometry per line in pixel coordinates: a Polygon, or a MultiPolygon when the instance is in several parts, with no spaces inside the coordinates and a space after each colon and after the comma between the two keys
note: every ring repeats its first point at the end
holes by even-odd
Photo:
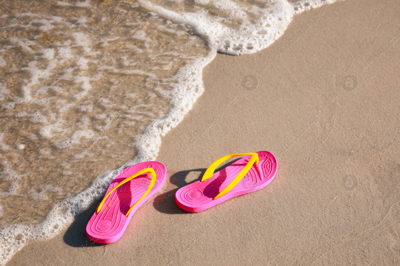
{"type": "Polygon", "coordinates": [[[176,204],[190,213],[203,211],[233,197],[262,189],[274,179],[277,167],[275,156],[267,151],[226,155],[208,167],[200,181],[178,189],[176,204]],[[214,173],[222,162],[240,155],[248,156],[214,173]]]}

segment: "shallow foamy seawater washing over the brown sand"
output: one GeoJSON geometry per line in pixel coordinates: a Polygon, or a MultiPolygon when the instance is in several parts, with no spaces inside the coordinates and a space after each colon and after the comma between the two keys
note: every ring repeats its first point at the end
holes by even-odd
{"type": "Polygon", "coordinates": [[[2,0],[0,264],[59,233],[123,167],[155,160],[218,51],[268,47],[321,4],[2,0]]]}

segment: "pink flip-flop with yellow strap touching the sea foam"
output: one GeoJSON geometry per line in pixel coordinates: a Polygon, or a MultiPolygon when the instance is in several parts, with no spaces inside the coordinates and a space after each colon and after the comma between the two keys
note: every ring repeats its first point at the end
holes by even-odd
{"type": "Polygon", "coordinates": [[[166,167],[156,161],[122,170],[111,182],[102,202],[86,225],[91,241],[110,244],[121,238],[135,211],[162,186],[166,167]]]}

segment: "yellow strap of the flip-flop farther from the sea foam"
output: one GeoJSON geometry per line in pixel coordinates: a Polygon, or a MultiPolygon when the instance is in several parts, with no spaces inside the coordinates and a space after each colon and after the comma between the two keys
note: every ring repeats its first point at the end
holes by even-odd
{"type": "Polygon", "coordinates": [[[226,155],[226,156],[216,160],[215,162],[213,162],[212,165],[210,165],[210,167],[208,167],[208,169],[204,173],[201,181],[204,181],[204,180],[212,177],[212,175],[214,174],[215,169],[220,164],[222,164],[223,162],[228,160],[229,158],[232,158],[232,157],[235,157],[235,156],[241,156],[241,155],[251,155],[250,161],[246,164],[246,166],[242,169],[242,171],[240,171],[240,173],[238,173],[238,175],[236,175],[235,179],[233,179],[232,182],[230,182],[230,184],[227,187],[224,188],[224,190],[222,190],[218,195],[216,195],[214,197],[214,199],[217,199],[217,198],[225,195],[226,193],[228,193],[232,188],[234,188],[234,186],[236,186],[239,183],[240,179],[242,179],[244,177],[244,175],[246,175],[246,173],[253,166],[254,162],[256,164],[258,164],[260,162],[260,160],[258,159],[258,154],[256,152],[249,152],[249,153],[236,153],[236,154],[226,155]]]}

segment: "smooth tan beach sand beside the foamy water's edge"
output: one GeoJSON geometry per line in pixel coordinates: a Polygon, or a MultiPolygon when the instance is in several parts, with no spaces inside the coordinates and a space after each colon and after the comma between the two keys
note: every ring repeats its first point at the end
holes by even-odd
{"type": "Polygon", "coordinates": [[[163,139],[164,187],[122,238],[87,240],[96,202],[8,265],[399,265],[400,40],[378,52],[400,37],[398,14],[396,1],[338,2],[296,16],[268,49],[219,54],[204,95],[163,139]],[[264,189],[200,213],[174,202],[217,158],[259,150],[278,160],[264,189]]]}

